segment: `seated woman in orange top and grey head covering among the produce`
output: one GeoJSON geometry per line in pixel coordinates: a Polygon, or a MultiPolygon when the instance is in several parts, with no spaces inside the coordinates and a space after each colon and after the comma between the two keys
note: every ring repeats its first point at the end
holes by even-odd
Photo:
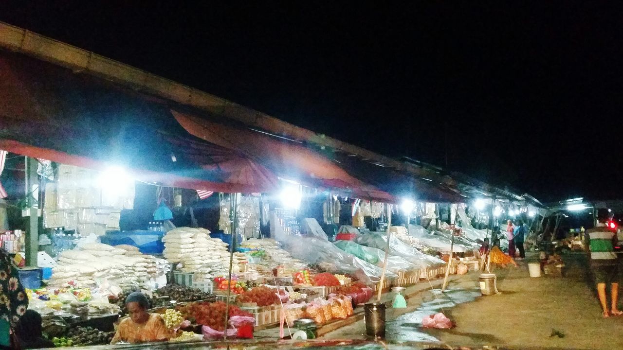
{"type": "Polygon", "coordinates": [[[167,341],[171,332],[166,328],[164,319],[157,313],[148,313],[147,297],[140,291],[128,295],[125,300],[130,317],[123,319],[117,327],[117,334],[110,344],[120,341],[126,343],[149,343],[151,341],[167,341]]]}

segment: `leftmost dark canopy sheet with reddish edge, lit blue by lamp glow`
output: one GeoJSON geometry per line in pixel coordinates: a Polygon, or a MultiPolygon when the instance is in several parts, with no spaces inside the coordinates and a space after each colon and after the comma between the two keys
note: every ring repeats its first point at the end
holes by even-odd
{"type": "Polygon", "coordinates": [[[110,164],[164,186],[265,192],[277,178],[189,135],[163,100],[0,51],[0,148],[86,168],[110,164]]]}

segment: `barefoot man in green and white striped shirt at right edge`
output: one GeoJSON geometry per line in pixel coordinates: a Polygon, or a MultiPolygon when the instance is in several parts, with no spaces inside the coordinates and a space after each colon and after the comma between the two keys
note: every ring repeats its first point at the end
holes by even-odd
{"type": "Polygon", "coordinates": [[[590,252],[590,267],[597,283],[597,296],[604,312],[604,318],[610,315],[620,316],[619,311],[619,265],[614,245],[617,242],[617,232],[606,225],[606,219],[601,217],[597,227],[586,230],[589,239],[587,248],[590,252]],[[606,285],[610,283],[611,308],[608,310],[606,300],[606,285]]]}

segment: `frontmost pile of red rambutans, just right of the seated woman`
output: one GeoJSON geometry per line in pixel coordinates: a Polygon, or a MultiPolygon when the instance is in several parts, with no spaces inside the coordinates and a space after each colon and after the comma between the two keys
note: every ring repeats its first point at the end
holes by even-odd
{"type": "MultiPolygon", "coordinates": [[[[202,324],[221,332],[225,330],[225,314],[227,310],[227,304],[222,301],[217,301],[216,303],[193,303],[181,306],[179,309],[186,316],[186,319],[194,320],[197,324],[202,324]]],[[[239,307],[229,305],[229,317],[232,316],[253,317],[250,313],[240,310],[239,307]]]]}

